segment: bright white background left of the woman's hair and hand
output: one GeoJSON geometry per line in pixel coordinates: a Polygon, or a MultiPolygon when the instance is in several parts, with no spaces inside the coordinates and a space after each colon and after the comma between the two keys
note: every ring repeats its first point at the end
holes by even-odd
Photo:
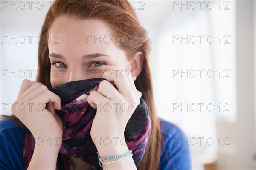
{"type": "Polygon", "coordinates": [[[23,2],[0,1],[1,114],[10,114],[22,80],[35,81],[37,75],[38,36],[50,1],[23,2]]]}

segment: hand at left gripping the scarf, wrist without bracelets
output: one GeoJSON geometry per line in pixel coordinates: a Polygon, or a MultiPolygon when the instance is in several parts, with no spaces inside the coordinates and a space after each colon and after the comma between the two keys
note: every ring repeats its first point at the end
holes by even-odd
{"type": "Polygon", "coordinates": [[[62,142],[63,124],[54,109],[61,109],[60,97],[42,83],[25,79],[11,111],[30,130],[34,138],[50,137],[53,140],[56,137],[62,142]]]}

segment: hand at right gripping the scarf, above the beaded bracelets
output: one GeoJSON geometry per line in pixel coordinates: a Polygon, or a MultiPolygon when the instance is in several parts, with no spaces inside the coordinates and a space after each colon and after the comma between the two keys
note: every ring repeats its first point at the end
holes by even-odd
{"type": "Polygon", "coordinates": [[[105,138],[114,142],[124,137],[126,124],[140,104],[140,95],[130,72],[115,70],[110,78],[104,74],[103,78],[106,80],[101,81],[98,90],[90,92],[87,98],[88,103],[97,109],[90,132],[97,149],[97,142],[105,138]],[[129,73],[128,76],[125,73],[129,73]],[[113,81],[118,90],[109,81],[113,81]]]}

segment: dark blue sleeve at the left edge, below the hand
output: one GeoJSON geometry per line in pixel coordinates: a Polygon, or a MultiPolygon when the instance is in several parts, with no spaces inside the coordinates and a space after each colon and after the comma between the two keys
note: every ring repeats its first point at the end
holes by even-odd
{"type": "Polygon", "coordinates": [[[0,170],[24,170],[25,131],[10,119],[5,119],[0,121],[0,170]]]}

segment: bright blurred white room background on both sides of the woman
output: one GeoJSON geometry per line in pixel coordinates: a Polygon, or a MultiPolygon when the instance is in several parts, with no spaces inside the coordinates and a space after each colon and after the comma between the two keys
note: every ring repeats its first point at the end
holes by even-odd
{"type": "MultiPolygon", "coordinates": [[[[0,109],[35,81],[52,0],[1,0],[0,109]]],[[[148,30],[159,117],[182,128],[192,169],[256,169],[255,0],[130,0],[148,30]]]]}

